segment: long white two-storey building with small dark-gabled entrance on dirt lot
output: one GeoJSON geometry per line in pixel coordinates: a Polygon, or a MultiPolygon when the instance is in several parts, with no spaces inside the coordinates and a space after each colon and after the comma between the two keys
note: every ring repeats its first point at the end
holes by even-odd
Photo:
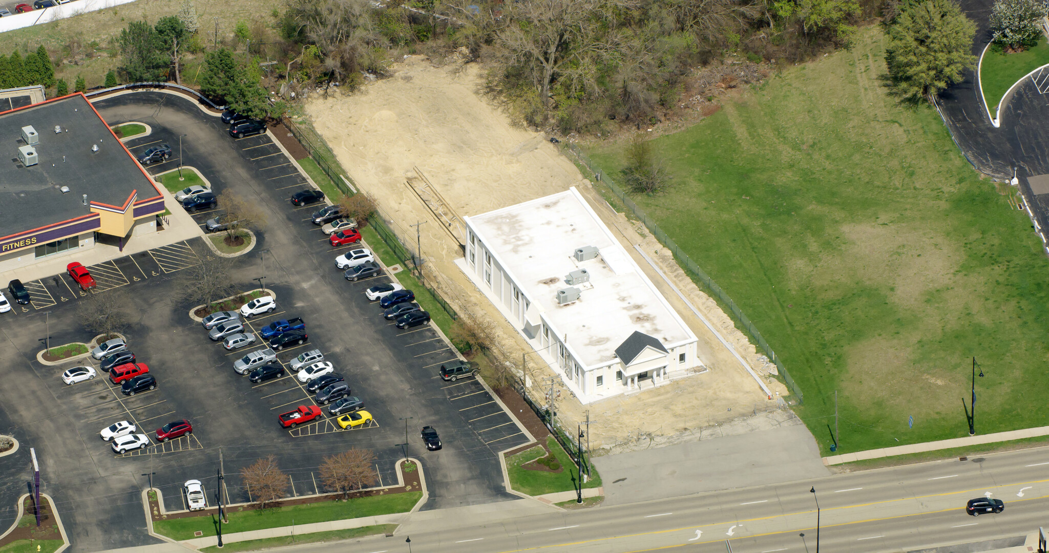
{"type": "Polygon", "coordinates": [[[459,267],[582,403],[703,366],[695,335],[575,188],[464,221],[459,267]]]}

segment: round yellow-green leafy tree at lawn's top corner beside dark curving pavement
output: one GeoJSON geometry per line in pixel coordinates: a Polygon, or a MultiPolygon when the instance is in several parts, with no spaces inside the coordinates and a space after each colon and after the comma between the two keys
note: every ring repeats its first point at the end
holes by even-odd
{"type": "Polygon", "coordinates": [[[885,63],[902,99],[932,101],[976,65],[969,54],[976,25],[951,0],[925,0],[904,9],[889,28],[885,63]]]}

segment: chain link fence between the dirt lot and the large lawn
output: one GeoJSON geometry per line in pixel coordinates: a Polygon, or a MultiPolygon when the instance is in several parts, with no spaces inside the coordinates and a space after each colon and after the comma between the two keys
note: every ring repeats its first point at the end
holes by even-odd
{"type": "Polygon", "coordinates": [[[623,189],[620,188],[619,185],[617,185],[612,177],[605,174],[600,167],[598,167],[593,161],[591,161],[591,158],[585,153],[583,153],[578,146],[576,146],[575,144],[561,143],[561,151],[565,153],[565,155],[569,156],[570,158],[574,158],[583,167],[588,169],[590,172],[594,174],[594,178],[596,180],[600,180],[601,183],[603,183],[608,188],[608,190],[612,191],[613,195],[615,195],[616,198],[619,199],[623,204],[623,206],[626,207],[626,209],[628,209],[630,213],[634,214],[635,217],[640,219],[641,222],[645,225],[645,228],[652,233],[652,236],[655,236],[656,239],[660,241],[660,243],[665,246],[667,250],[670,250],[670,253],[673,254],[673,256],[678,259],[681,267],[692,277],[692,279],[702,282],[703,285],[706,286],[706,289],[710,291],[711,294],[713,294],[713,296],[721,302],[722,305],[728,307],[729,313],[732,314],[736,322],[738,322],[742,328],[746,331],[747,334],[749,334],[750,337],[753,338],[755,342],[757,342],[757,346],[761,347],[763,352],[765,352],[765,355],[766,357],[769,358],[769,361],[775,363],[776,369],[778,370],[779,375],[783,376],[784,381],[786,381],[787,383],[787,386],[790,387],[791,394],[797,397],[798,404],[804,403],[801,388],[799,388],[797,384],[794,382],[794,379],[791,378],[790,373],[787,371],[787,367],[785,367],[783,363],[779,362],[779,358],[776,357],[776,353],[772,349],[771,346],[769,346],[769,343],[765,341],[765,338],[762,337],[762,333],[757,332],[757,328],[754,327],[754,324],[750,322],[750,319],[748,319],[747,316],[743,314],[743,311],[741,311],[740,307],[735,304],[735,302],[732,301],[732,298],[730,298],[728,294],[726,294],[725,291],[722,290],[721,286],[719,286],[718,283],[713,281],[713,279],[711,279],[702,269],[700,269],[700,265],[698,265],[695,261],[692,261],[692,259],[688,257],[688,254],[686,254],[681,248],[678,248],[677,242],[675,242],[673,239],[667,236],[667,234],[663,232],[662,229],[659,228],[659,225],[657,225],[651,217],[649,217],[641,208],[639,208],[637,204],[630,200],[630,198],[626,195],[626,192],[624,192],[623,189]]]}

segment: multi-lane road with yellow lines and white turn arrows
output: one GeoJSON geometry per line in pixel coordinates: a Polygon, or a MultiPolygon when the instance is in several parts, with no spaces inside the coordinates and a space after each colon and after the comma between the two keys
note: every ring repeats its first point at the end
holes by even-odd
{"type": "Polygon", "coordinates": [[[404,539],[410,537],[414,551],[456,553],[722,553],[726,540],[734,553],[815,551],[817,499],[820,547],[827,551],[914,551],[1003,538],[1014,544],[1045,526],[1047,460],[1049,450],[1042,448],[569,512],[502,504],[504,516],[496,507],[476,523],[455,511],[413,518],[394,538],[356,540],[350,550],[407,551],[404,539]],[[987,493],[1006,503],[1003,513],[965,514],[968,499],[987,493]]]}

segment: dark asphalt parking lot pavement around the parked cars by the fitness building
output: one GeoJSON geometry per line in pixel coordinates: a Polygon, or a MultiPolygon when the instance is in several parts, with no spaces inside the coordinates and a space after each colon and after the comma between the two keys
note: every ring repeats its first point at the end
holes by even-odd
{"type": "MultiPolygon", "coordinates": [[[[226,352],[211,342],[199,323],[171,299],[179,271],[199,262],[210,252],[201,240],[164,248],[90,267],[99,280],[95,293],[126,292],[138,317],[125,333],[138,362],[150,366],[158,380],[155,390],[128,398],[97,378],[72,386],[58,376],[70,365],[43,366],[35,361],[42,345],[48,313],[52,344],[86,341],[89,336],[74,321],[82,293],[66,275],[26,283],[30,305],[0,316],[4,340],[0,363],[21,373],[23,386],[0,389],[0,432],[15,433],[23,447],[35,446],[43,464],[45,491],[57,501],[73,551],[99,551],[155,543],[145,533],[138,492],[152,474],[169,509],[181,509],[180,484],[200,480],[213,502],[221,450],[226,486],[232,501],[247,499],[238,471],[255,460],[274,454],[291,474],[290,493],[323,491],[318,482],[321,460],[347,447],[372,449],[380,477],[394,477],[392,467],[407,443],[410,456],[426,471],[430,499],[436,509],[514,498],[506,493],[497,452],[527,442],[527,437],[498,402],[473,379],[444,382],[436,377],[441,363],[455,359],[428,325],[398,329],[382,318],[364,291],[386,282],[377,276],[358,282],[342,278],[334,258],[349,246],[331,248],[319,227],[309,220],[318,205],[294,208],[288,196],[305,179],[273,144],[269,135],[234,141],[217,118],[189,101],[170,94],[145,92],[106,99],[95,107],[111,124],[146,122],[153,134],[127,146],[133,153],[156,141],[177,144],[181,162],[197,168],[215,186],[257,198],[270,216],[259,243],[237,258],[235,280],[255,288],[265,277],[277,295],[278,309],[251,320],[253,332],[275,319],[302,317],[309,341],[285,348],[287,362],[302,350],[320,348],[361,397],[376,423],[342,430],[327,416],[296,429],[277,424],[277,414],[298,405],[311,405],[312,396],[293,376],[252,384],[232,370],[235,359],[260,346],[226,352]],[[17,317],[24,317],[16,321],[17,317]],[[119,420],[153,430],[169,420],[189,419],[192,437],[115,455],[98,432],[119,420]],[[445,447],[426,451],[419,429],[433,425],[445,447]],[[407,442],[406,442],[407,438],[407,442]]],[[[147,169],[162,172],[177,167],[175,155],[147,169]],[[174,162],[174,165],[172,165],[174,162]]],[[[221,206],[219,206],[220,210],[221,206]]],[[[215,212],[194,214],[202,224],[215,212]]],[[[74,256],[70,258],[73,260],[74,256]]],[[[98,366],[97,362],[90,360],[98,366]]],[[[17,455],[13,455],[17,456],[17,455]]],[[[0,464],[0,466],[3,466],[0,464]]],[[[26,473],[5,471],[0,495],[24,489],[26,473]]],[[[0,511],[0,517],[3,511],[0,511]]]]}

